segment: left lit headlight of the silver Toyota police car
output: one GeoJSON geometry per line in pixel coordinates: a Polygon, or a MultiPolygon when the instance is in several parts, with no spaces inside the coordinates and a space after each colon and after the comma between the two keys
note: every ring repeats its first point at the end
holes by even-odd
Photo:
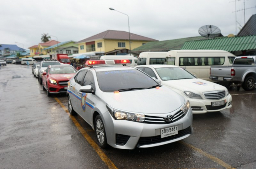
{"type": "Polygon", "coordinates": [[[141,122],[141,123],[145,121],[145,115],[119,111],[110,107],[107,104],[106,104],[106,108],[108,109],[109,113],[115,120],[129,120],[129,121],[135,121],[135,122],[141,122]]]}

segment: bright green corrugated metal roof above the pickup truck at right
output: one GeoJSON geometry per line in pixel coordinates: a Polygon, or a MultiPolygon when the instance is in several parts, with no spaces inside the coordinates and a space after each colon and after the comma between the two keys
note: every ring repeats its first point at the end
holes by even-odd
{"type": "Polygon", "coordinates": [[[181,49],[241,51],[256,49],[256,35],[187,41],[181,49]]]}

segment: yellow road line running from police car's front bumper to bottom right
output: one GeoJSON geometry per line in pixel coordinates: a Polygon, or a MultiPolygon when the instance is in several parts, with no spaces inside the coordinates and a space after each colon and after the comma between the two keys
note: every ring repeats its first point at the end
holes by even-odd
{"type": "Polygon", "coordinates": [[[183,145],[185,145],[185,146],[187,146],[187,147],[197,151],[198,153],[202,154],[203,156],[210,158],[211,160],[213,160],[214,162],[218,163],[219,165],[225,167],[226,169],[234,169],[234,168],[231,167],[231,165],[225,163],[223,160],[221,160],[221,159],[219,159],[217,157],[214,157],[213,155],[208,154],[207,152],[204,152],[203,150],[201,150],[199,148],[196,148],[196,147],[194,147],[194,146],[192,146],[192,145],[190,145],[188,143],[185,143],[183,141],[179,141],[179,142],[182,143],[183,145]]]}

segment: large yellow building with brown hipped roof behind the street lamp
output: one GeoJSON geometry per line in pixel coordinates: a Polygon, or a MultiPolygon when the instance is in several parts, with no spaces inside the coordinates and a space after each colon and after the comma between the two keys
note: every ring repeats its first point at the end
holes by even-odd
{"type": "MultiPolygon", "coordinates": [[[[131,50],[156,39],[130,33],[131,50]]],[[[125,31],[107,30],[97,35],[78,41],[79,53],[105,53],[115,49],[130,49],[129,33],[125,31]]]]}

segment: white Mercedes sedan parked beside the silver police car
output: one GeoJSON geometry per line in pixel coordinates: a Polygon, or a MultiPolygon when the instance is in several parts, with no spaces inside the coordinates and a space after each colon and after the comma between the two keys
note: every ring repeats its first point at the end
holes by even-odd
{"type": "Polygon", "coordinates": [[[187,98],[193,114],[217,112],[232,107],[232,96],[226,87],[198,79],[181,67],[143,65],[136,68],[187,98]]]}

